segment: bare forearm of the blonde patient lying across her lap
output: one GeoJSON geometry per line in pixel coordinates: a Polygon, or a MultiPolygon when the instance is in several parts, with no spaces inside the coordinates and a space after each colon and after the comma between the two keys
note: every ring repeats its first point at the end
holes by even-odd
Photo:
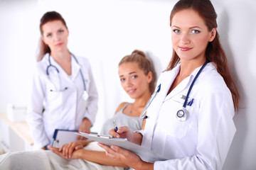
{"type": "Polygon", "coordinates": [[[126,164],[114,160],[110,157],[107,157],[105,152],[93,151],[87,149],[78,149],[76,152],[79,152],[79,158],[85,159],[90,162],[95,162],[97,164],[107,165],[107,166],[121,166],[128,167],[126,164]]]}

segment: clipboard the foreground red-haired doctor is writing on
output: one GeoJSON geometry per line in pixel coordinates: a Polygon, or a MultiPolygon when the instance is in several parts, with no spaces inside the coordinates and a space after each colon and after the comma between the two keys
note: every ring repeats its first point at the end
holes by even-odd
{"type": "Polygon", "coordinates": [[[147,149],[146,147],[142,147],[140,145],[129,142],[127,139],[114,138],[114,137],[109,137],[109,136],[105,136],[105,135],[88,134],[88,133],[83,133],[83,132],[79,132],[79,133],[77,133],[77,135],[87,137],[90,140],[94,140],[96,142],[102,143],[107,146],[116,145],[118,147],[127,149],[131,152],[134,152],[135,154],[138,154],[139,157],[144,162],[154,163],[156,161],[167,160],[165,157],[161,156],[160,154],[157,154],[157,153],[147,149]]]}

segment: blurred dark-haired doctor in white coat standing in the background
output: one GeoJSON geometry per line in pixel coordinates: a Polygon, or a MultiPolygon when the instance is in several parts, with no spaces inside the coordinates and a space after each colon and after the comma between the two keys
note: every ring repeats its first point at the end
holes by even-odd
{"type": "Polygon", "coordinates": [[[27,113],[34,149],[52,145],[55,129],[90,132],[98,101],[90,62],[69,52],[68,27],[60,13],[45,13],[40,30],[41,51],[27,113]]]}

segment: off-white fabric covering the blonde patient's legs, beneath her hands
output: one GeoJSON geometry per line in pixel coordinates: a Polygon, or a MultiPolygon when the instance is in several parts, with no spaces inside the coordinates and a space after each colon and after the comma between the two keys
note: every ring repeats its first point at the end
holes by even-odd
{"type": "MultiPolygon", "coordinates": [[[[102,151],[97,142],[91,142],[85,149],[102,151]]],[[[104,166],[89,162],[84,159],[63,159],[51,151],[21,151],[10,152],[0,155],[0,169],[20,169],[20,170],[70,170],[70,169],[90,169],[90,170],[123,170],[122,167],[104,166]]]]}

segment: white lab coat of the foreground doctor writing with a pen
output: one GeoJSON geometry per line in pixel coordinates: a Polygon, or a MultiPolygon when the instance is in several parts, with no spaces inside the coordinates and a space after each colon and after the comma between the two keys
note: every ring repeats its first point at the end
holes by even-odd
{"type": "Polygon", "coordinates": [[[181,122],[176,113],[200,67],[166,96],[179,69],[178,64],[159,77],[161,90],[147,110],[142,146],[169,159],[155,162],[154,169],[222,169],[236,130],[230,90],[213,63],[208,63],[189,95],[190,117],[181,122]]]}

